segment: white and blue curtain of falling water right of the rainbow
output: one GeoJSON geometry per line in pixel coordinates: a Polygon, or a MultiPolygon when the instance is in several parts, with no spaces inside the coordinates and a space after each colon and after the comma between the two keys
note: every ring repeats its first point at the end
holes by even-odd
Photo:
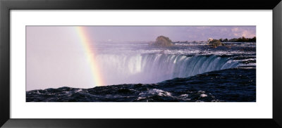
{"type": "Polygon", "coordinates": [[[161,53],[100,54],[96,59],[108,85],[152,84],[175,77],[190,77],[203,72],[235,68],[239,64],[220,56],[161,53]]]}

